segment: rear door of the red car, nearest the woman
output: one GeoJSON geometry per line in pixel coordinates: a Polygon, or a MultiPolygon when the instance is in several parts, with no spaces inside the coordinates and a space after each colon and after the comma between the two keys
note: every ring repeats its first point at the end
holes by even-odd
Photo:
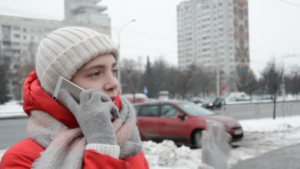
{"type": "Polygon", "coordinates": [[[143,140],[160,140],[159,104],[147,104],[136,108],[137,126],[143,140]]]}

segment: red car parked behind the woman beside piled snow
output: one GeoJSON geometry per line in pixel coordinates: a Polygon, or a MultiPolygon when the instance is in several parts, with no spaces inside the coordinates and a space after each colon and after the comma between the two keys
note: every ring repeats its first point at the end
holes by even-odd
{"type": "Polygon", "coordinates": [[[225,125],[231,142],[243,138],[243,129],[234,119],[215,115],[193,102],[181,100],[136,103],[138,128],[143,141],[173,140],[176,144],[201,147],[201,131],[206,122],[214,120],[225,125]]]}

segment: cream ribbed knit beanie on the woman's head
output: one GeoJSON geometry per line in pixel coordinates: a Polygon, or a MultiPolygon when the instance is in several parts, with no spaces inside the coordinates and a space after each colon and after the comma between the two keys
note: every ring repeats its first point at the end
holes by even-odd
{"type": "Polygon", "coordinates": [[[117,46],[104,34],[81,27],[53,31],[38,45],[36,70],[41,87],[52,96],[59,76],[71,80],[83,64],[105,53],[118,60],[117,46]]]}

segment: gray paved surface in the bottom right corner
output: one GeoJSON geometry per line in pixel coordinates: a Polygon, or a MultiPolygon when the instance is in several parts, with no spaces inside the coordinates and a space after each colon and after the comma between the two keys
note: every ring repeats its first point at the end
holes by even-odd
{"type": "Polygon", "coordinates": [[[300,144],[238,162],[231,169],[299,169],[300,144]]]}

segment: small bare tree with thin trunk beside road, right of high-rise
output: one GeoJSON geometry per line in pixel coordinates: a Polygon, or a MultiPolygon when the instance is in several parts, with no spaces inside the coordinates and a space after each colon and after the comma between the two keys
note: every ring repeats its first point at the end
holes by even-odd
{"type": "Polygon", "coordinates": [[[268,94],[271,94],[273,98],[273,119],[276,118],[276,96],[280,93],[281,90],[280,86],[282,84],[284,72],[283,70],[283,66],[278,66],[274,59],[267,63],[266,67],[262,72],[263,83],[265,85],[265,88],[268,94]]]}

